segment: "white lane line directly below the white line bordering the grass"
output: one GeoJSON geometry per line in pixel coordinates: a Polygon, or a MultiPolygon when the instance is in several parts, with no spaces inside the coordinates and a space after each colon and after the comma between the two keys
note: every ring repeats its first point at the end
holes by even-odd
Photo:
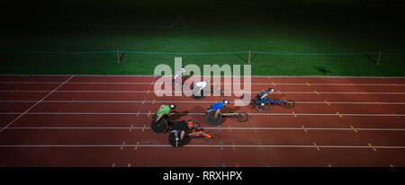
{"type": "MultiPolygon", "coordinates": [[[[54,81],[41,81],[41,82],[31,82],[31,81],[19,81],[19,82],[0,82],[0,84],[60,84],[61,82],[54,82],[54,81]]],[[[137,83],[137,82],[132,82],[132,83],[122,83],[122,82],[69,82],[67,84],[151,84],[153,82],[149,83],[137,83]]],[[[221,83],[221,84],[229,84],[229,83],[221,83]]],[[[232,83],[232,84],[241,84],[241,83],[232,83]]],[[[249,83],[243,83],[243,84],[249,84],[249,83]]],[[[250,84],[267,84],[267,85],[308,85],[305,83],[250,83],[250,84]]],[[[338,86],[405,86],[405,84],[343,84],[343,83],[317,83],[317,84],[311,84],[311,85],[338,85],[338,86]]]]}

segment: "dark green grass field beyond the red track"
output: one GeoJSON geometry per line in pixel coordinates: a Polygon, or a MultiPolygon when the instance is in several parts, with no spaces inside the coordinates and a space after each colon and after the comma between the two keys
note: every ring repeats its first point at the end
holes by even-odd
{"type": "MultiPolygon", "coordinates": [[[[252,75],[405,75],[403,4],[280,2],[36,4],[28,13],[21,9],[23,16],[9,16],[0,50],[310,54],[381,50],[380,65],[375,64],[377,55],[253,54],[252,75]],[[387,55],[391,52],[402,55],[387,55]]],[[[184,66],[247,64],[247,54],[121,57],[117,63],[115,53],[0,53],[0,74],[153,75],[159,64],[174,66],[175,57],[183,57],[184,66]]]]}

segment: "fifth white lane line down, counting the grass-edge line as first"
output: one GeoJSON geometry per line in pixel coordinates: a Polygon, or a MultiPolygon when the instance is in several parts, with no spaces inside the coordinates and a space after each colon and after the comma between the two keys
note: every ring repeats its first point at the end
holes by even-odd
{"type": "MultiPolygon", "coordinates": [[[[0,112],[0,115],[7,114],[21,114],[23,112],[0,112]]],[[[27,115],[148,115],[148,112],[26,112],[27,115]]],[[[202,112],[188,112],[188,113],[171,113],[173,115],[205,115],[202,112]]],[[[318,113],[249,113],[252,116],[337,116],[337,114],[318,114],[318,113]]],[[[339,114],[342,116],[383,116],[383,117],[402,117],[405,114],[339,114]]]]}

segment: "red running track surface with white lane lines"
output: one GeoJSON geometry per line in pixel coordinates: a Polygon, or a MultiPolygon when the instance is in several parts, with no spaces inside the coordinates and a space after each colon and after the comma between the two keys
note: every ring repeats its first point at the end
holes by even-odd
{"type": "Polygon", "coordinates": [[[70,77],[0,76],[0,166],[405,166],[405,78],[254,77],[253,92],[273,86],[295,107],[231,108],[252,118],[212,127],[202,113],[220,97],[157,97],[154,76],[70,77]],[[168,145],[149,128],[164,102],[220,139],[168,145]]]}

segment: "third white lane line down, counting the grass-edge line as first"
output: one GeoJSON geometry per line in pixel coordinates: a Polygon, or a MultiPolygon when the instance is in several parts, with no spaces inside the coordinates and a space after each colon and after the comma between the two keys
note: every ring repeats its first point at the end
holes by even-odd
{"type": "MultiPolygon", "coordinates": [[[[46,90],[46,91],[2,90],[2,91],[0,91],[0,93],[46,93],[46,92],[50,92],[50,91],[49,90],[46,90]]],[[[73,90],[73,91],[58,91],[57,93],[148,93],[148,92],[150,93],[150,90],[149,91],[103,91],[103,90],[100,90],[100,91],[77,90],[77,91],[75,91],[75,90],[73,90]]],[[[173,92],[159,91],[158,93],[173,93],[173,92]]],[[[245,93],[245,92],[232,92],[232,93],[245,93]]],[[[250,92],[250,93],[260,93],[260,92],[250,92]]],[[[300,94],[300,93],[304,93],[304,94],[305,93],[310,93],[310,94],[312,94],[312,93],[313,94],[318,94],[318,93],[325,93],[325,94],[329,94],[329,93],[331,93],[331,94],[387,94],[387,95],[388,94],[405,94],[405,92],[391,92],[391,93],[386,93],[386,92],[316,92],[316,93],[315,92],[280,92],[280,94],[281,93],[284,93],[284,94],[289,94],[289,93],[292,93],[292,94],[295,94],[295,93],[298,93],[298,94],[300,94]]]]}

